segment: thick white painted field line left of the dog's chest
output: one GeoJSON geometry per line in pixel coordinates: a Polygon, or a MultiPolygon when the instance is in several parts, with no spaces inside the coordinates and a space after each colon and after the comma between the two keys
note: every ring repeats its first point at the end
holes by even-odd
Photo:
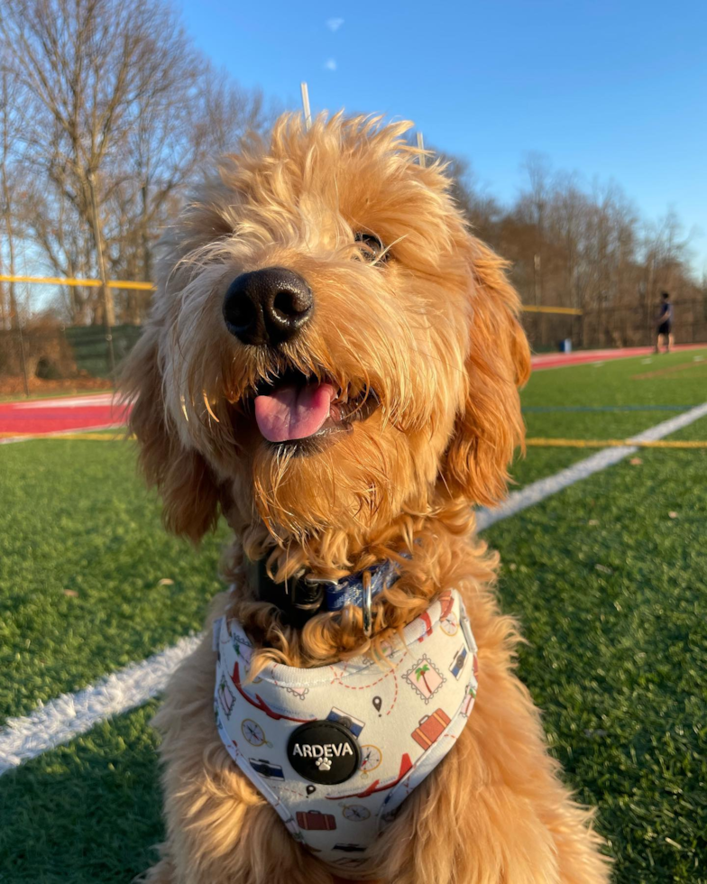
{"type": "Polygon", "coordinates": [[[8,719],[0,730],[0,777],[23,761],[90,731],[111,715],[128,712],[160,694],[200,640],[200,635],[180,639],[171,648],[118,669],[76,694],[62,694],[40,704],[30,715],[8,719]]]}

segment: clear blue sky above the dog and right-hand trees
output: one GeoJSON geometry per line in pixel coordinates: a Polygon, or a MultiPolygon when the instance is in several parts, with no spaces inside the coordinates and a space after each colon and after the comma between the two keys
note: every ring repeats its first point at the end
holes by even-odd
{"type": "Polygon", "coordinates": [[[243,86],[313,110],[414,120],[508,201],[529,151],[670,207],[707,272],[704,0],[181,0],[197,45],[243,86]]]}

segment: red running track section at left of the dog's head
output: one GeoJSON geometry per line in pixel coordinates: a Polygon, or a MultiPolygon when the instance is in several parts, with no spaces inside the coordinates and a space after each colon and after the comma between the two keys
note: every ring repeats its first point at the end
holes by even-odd
{"type": "Polygon", "coordinates": [[[44,436],[122,426],[124,406],[112,393],[22,402],[0,402],[0,437],[44,436]]]}

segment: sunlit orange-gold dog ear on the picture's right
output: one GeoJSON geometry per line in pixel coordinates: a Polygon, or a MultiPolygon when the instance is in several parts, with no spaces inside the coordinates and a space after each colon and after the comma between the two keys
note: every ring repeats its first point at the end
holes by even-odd
{"type": "Polygon", "coordinates": [[[528,380],[530,351],[519,323],[519,297],[508,263],[467,236],[470,347],[464,405],[445,453],[442,479],[454,496],[492,504],[506,493],[508,467],[522,446],[525,426],[519,386],[528,380]]]}

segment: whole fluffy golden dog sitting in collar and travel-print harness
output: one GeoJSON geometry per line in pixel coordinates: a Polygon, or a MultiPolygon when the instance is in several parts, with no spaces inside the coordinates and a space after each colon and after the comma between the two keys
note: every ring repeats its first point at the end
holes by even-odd
{"type": "Polygon", "coordinates": [[[519,629],[494,594],[499,558],[474,536],[473,506],[500,501],[523,442],[519,299],[456,207],[445,165],[406,140],[410,125],[339,114],[308,129],[283,115],[269,140],[249,136],[220,161],[163,238],[151,318],[124,374],[130,428],[166,527],[197,542],[223,516],[234,539],[229,589],[154,720],[167,835],[152,884],[609,879],[592,812],[563,785],[514,673],[519,629]],[[352,580],[358,601],[327,609],[352,580]],[[460,622],[469,629],[449,667],[425,655],[403,671],[460,622]],[[357,717],[340,676],[371,676],[353,666],[362,660],[381,689],[358,697],[357,717]],[[281,691],[273,711],[263,676],[308,669],[339,674],[342,708],[332,699],[315,722],[335,737],[296,742],[293,755],[291,733],[312,715],[292,710],[308,708],[309,688],[281,691]],[[462,681],[452,733],[435,692],[456,709],[462,681]],[[381,738],[407,741],[390,783],[409,794],[394,789],[399,806],[357,843],[361,801],[324,796],[324,812],[303,802],[342,765],[370,784],[354,794],[390,792],[366,769],[380,758],[366,728],[387,726],[393,682],[400,708],[423,713],[411,713],[415,730],[381,738]],[[252,713],[247,743],[224,731],[234,709],[252,713]],[[289,760],[274,757],[268,745],[288,734],[289,760]],[[409,753],[424,760],[433,742],[444,757],[411,787],[409,753]],[[290,767],[307,764],[297,779],[290,767]],[[283,812],[290,802],[304,809],[283,812]]]}

